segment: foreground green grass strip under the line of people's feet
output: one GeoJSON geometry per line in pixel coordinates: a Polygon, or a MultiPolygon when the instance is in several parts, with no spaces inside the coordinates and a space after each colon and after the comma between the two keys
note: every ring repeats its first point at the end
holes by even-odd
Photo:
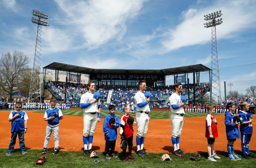
{"type": "MultiPolygon", "coordinates": [[[[42,166],[33,164],[41,155],[41,150],[27,150],[26,155],[22,155],[18,149],[14,150],[14,153],[5,156],[7,149],[0,149],[0,167],[1,168],[255,168],[256,159],[249,158],[248,160],[242,159],[240,161],[230,161],[227,159],[227,153],[218,153],[221,158],[217,162],[207,161],[207,154],[200,153],[201,159],[199,162],[190,160],[189,154],[182,155],[182,158],[176,157],[173,154],[169,154],[173,161],[160,161],[163,153],[150,153],[150,156],[144,158],[138,157],[133,153],[133,157],[136,161],[124,162],[120,158],[121,153],[117,153],[119,159],[106,160],[99,152],[99,163],[95,164],[94,159],[89,157],[83,157],[82,152],[77,151],[60,151],[57,155],[52,156],[52,151],[49,151],[45,156],[46,162],[42,166]]],[[[194,155],[196,155],[194,153],[194,155]]],[[[253,154],[255,155],[255,154],[253,154]]],[[[239,155],[238,155],[239,156],[239,155]]]]}

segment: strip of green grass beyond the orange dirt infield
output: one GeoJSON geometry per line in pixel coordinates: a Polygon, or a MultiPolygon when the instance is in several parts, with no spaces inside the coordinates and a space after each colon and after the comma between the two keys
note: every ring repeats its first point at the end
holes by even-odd
{"type": "MultiPolygon", "coordinates": [[[[45,110],[39,110],[35,113],[44,113],[45,110]]],[[[69,116],[83,116],[82,110],[62,110],[61,111],[63,115],[69,115],[69,116]]],[[[121,118],[123,113],[119,113],[120,111],[115,111],[115,115],[118,118],[121,118]]],[[[108,114],[107,110],[101,110],[101,118],[105,118],[105,116],[108,114]]],[[[131,117],[135,118],[136,113],[130,113],[131,117]]],[[[170,119],[171,112],[163,112],[163,111],[150,111],[149,116],[151,119],[170,119]]],[[[223,114],[214,114],[214,116],[219,116],[223,114]]],[[[207,113],[185,113],[184,117],[206,117],[207,113]]]]}

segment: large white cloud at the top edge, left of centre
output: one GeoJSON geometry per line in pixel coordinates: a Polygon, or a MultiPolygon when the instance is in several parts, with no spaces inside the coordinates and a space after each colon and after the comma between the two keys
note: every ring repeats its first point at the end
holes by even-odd
{"type": "Polygon", "coordinates": [[[125,21],[136,16],[147,0],[55,1],[67,15],[65,24],[75,27],[73,31],[81,33],[84,46],[93,49],[120,40],[126,32],[125,21]]]}

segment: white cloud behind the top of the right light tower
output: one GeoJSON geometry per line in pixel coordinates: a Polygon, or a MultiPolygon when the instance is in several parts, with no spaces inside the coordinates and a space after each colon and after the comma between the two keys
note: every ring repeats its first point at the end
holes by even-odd
{"type": "Polygon", "coordinates": [[[168,52],[210,41],[210,28],[203,27],[206,22],[203,15],[219,9],[223,13],[223,23],[216,26],[217,39],[234,37],[240,30],[255,27],[255,7],[254,0],[219,0],[206,8],[190,8],[181,13],[184,20],[175,29],[165,33],[168,38],[162,40],[162,45],[168,52]]]}

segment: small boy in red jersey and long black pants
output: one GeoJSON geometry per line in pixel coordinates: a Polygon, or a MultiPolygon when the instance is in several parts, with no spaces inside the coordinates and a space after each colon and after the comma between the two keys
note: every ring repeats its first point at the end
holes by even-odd
{"type": "Polygon", "coordinates": [[[129,162],[135,161],[135,159],[131,155],[131,150],[132,150],[132,140],[133,140],[133,128],[134,126],[134,119],[129,115],[130,114],[130,106],[129,105],[124,105],[123,106],[123,112],[124,115],[121,118],[121,123],[120,123],[120,135],[122,140],[126,140],[128,143],[128,157],[126,157],[126,149],[122,150],[122,160],[129,162]]]}

